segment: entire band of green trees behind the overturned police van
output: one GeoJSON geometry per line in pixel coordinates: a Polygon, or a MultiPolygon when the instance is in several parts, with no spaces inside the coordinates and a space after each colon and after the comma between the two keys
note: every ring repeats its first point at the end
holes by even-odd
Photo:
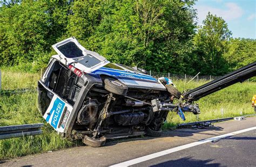
{"type": "Polygon", "coordinates": [[[223,75],[255,57],[255,40],[230,39],[208,13],[196,30],[194,1],[1,1],[0,66],[36,72],[51,45],[76,37],[111,62],[175,74],[223,75]]]}

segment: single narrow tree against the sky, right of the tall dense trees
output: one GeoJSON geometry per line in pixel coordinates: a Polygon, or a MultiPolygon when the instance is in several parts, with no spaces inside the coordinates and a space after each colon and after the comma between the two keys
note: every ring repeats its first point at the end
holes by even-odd
{"type": "Polygon", "coordinates": [[[201,74],[219,76],[227,72],[223,55],[227,52],[231,34],[224,19],[208,13],[193,40],[198,58],[196,68],[201,74]]]}

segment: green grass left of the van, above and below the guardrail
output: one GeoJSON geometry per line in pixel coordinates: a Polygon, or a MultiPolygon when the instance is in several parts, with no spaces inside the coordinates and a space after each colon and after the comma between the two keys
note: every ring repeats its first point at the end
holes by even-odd
{"type": "MultiPolygon", "coordinates": [[[[2,88],[5,90],[36,87],[39,74],[26,74],[2,70],[2,88]]],[[[35,124],[44,122],[37,110],[37,93],[0,95],[0,126],[35,124]]],[[[0,140],[0,159],[42,153],[76,146],[77,143],[62,139],[49,125],[43,134],[0,140]]]]}

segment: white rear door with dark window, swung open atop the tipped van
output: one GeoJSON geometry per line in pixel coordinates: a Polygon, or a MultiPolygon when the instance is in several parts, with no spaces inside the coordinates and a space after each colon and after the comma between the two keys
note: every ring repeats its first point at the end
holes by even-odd
{"type": "Polygon", "coordinates": [[[95,71],[109,63],[105,57],[85,49],[75,37],[60,41],[52,47],[59,54],[60,62],[66,66],[72,64],[75,68],[86,73],[95,71]]]}

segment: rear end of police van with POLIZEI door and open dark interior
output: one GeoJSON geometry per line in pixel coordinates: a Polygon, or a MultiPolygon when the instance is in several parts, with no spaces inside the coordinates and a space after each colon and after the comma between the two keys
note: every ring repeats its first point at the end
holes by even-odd
{"type": "Polygon", "coordinates": [[[53,59],[38,82],[38,107],[44,119],[57,132],[63,133],[83,79],[53,59]]]}

